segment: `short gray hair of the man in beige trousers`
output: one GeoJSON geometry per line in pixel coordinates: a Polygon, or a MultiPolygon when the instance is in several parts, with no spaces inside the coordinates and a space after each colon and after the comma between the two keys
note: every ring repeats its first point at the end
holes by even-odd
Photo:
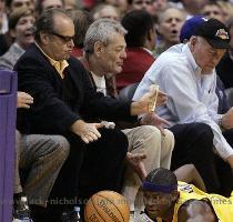
{"type": "Polygon", "coordinates": [[[85,53],[93,53],[94,43],[97,41],[101,41],[108,46],[115,33],[125,36],[126,30],[119,21],[111,19],[98,19],[89,27],[85,33],[83,50],[85,53]]]}

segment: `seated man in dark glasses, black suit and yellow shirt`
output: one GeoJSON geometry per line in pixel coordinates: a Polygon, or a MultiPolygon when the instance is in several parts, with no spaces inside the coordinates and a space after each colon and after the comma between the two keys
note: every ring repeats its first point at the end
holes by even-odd
{"type": "Polygon", "coordinates": [[[67,203],[77,203],[78,194],[89,198],[100,190],[120,191],[128,140],[119,130],[90,122],[131,120],[148,112],[151,94],[138,102],[120,102],[97,93],[82,64],[70,58],[74,26],[63,10],[45,11],[36,28],[36,43],[14,67],[19,89],[34,98],[31,109],[19,113],[20,131],[57,133],[69,140],[70,155],[53,189],[59,198],[71,200],[67,203]]]}

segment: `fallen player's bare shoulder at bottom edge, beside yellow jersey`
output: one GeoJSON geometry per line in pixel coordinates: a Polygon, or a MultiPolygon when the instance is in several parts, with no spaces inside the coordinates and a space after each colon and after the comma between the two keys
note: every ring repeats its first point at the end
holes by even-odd
{"type": "Polygon", "coordinates": [[[179,222],[217,222],[216,215],[206,201],[190,200],[178,211],[179,222]]]}

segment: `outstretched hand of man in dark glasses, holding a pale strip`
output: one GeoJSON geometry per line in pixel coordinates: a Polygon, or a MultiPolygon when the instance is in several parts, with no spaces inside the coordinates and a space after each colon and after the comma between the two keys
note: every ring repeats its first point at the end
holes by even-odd
{"type": "Polygon", "coordinates": [[[151,108],[155,108],[155,105],[159,107],[159,105],[164,104],[166,102],[166,99],[168,99],[168,95],[164,92],[156,91],[154,90],[154,88],[151,88],[151,90],[146,92],[145,94],[143,94],[139,101],[132,102],[131,114],[139,115],[143,113],[152,112],[151,108]],[[154,105],[154,102],[156,102],[155,105],[154,105]]]}

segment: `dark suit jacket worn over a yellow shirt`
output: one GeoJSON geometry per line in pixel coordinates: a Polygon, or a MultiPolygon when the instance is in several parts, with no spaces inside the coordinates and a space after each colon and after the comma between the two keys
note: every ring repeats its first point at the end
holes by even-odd
{"type": "Polygon", "coordinates": [[[68,60],[61,79],[36,44],[31,44],[17,62],[19,91],[34,98],[29,110],[19,114],[19,129],[24,133],[67,134],[79,119],[129,120],[130,103],[97,93],[81,62],[68,60]]]}

